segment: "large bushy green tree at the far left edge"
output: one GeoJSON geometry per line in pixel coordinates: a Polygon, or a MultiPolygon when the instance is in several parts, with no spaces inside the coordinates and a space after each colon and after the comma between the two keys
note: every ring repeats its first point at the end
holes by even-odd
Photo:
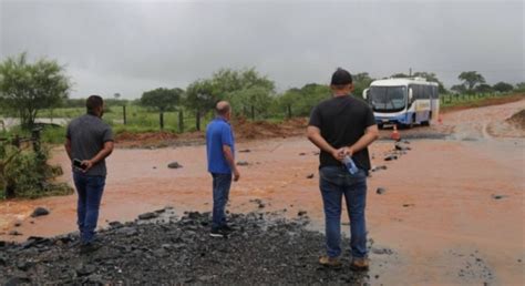
{"type": "Polygon", "coordinates": [[[59,106],[70,90],[64,68],[56,61],[29,63],[27,53],[22,53],[0,63],[0,101],[18,113],[24,129],[33,126],[40,110],[59,106]]]}

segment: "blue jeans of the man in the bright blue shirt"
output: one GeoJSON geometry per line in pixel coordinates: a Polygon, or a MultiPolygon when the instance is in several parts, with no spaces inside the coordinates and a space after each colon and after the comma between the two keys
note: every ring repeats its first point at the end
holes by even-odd
{"type": "Polygon", "coordinates": [[[217,229],[226,225],[225,208],[229,198],[231,174],[212,173],[212,176],[214,178],[214,212],[212,227],[217,229]]]}

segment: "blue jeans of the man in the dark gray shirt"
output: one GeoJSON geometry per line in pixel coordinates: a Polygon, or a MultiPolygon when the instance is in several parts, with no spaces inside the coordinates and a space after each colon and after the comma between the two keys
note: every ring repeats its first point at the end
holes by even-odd
{"type": "Polygon", "coordinates": [[[87,176],[73,173],[73,180],[79,194],[76,205],[76,224],[79,225],[82,243],[90,243],[95,237],[96,222],[99,221],[99,208],[102,193],[104,192],[104,176],[87,176]]]}

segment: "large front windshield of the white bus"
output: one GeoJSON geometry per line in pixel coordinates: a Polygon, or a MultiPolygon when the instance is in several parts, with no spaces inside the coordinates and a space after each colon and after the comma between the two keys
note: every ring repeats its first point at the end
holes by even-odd
{"type": "Polygon", "coordinates": [[[374,111],[401,111],[406,104],[406,86],[371,86],[369,99],[374,111]]]}

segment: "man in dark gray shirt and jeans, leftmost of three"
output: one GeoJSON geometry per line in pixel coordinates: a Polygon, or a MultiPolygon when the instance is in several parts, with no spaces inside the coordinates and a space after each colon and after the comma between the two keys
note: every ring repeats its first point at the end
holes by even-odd
{"type": "Polygon", "coordinates": [[[71,121],[65,141],[79,194],[76,214],[83,253],[96,249],[95,228],[107,174],[105,159],[113,152],[113,132],[102,121],[104,101],[91,95],[85,105],[87,114],[71,121]]]}

